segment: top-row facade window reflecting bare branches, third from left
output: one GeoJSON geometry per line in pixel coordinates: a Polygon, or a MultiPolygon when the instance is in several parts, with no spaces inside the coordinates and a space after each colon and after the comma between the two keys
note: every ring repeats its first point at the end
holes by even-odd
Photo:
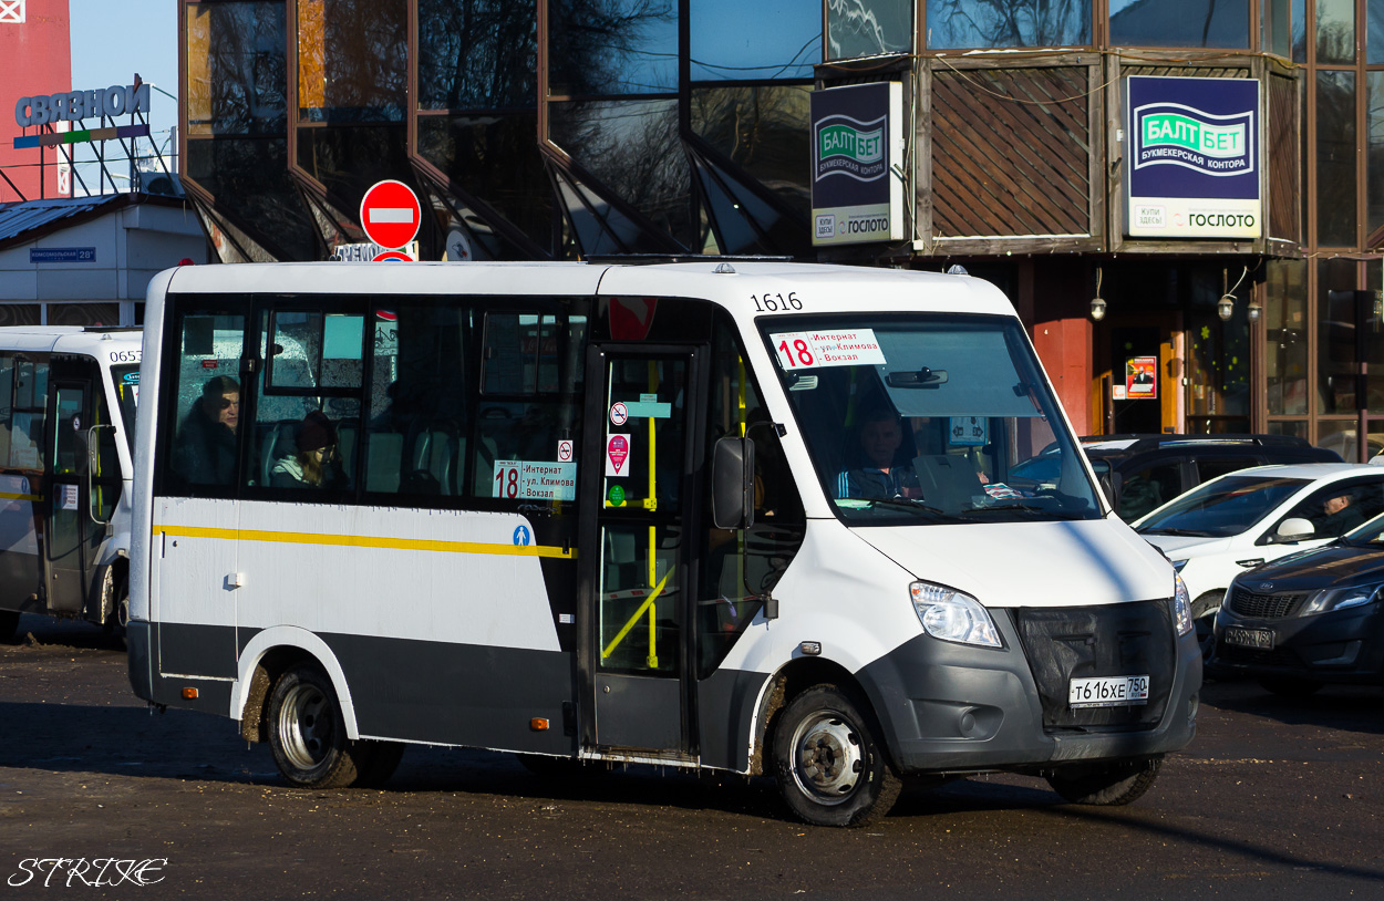
{"type": "Polygon", "coordinates": [[[537,10],[513,0],[418,0],[418,108],[534,107],[537,10]]]}

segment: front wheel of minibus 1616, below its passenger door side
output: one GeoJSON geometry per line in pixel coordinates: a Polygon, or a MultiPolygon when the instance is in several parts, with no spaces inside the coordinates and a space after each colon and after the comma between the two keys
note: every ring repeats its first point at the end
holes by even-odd
{"type": "Polygon", "coordinates": [[[835,685],[817,685],[778,716],[779,794],[814,826],[864,826],[887,814],[902,790],[862,707],[835,685]]]}

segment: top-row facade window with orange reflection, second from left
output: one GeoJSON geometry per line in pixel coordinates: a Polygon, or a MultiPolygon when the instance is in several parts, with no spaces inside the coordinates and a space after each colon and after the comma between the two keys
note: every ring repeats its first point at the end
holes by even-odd
{"type": "Polygon", "coordinates": [[[296,0],[298,115],[401,122],[408,90],[404,0],[296,0]]]}

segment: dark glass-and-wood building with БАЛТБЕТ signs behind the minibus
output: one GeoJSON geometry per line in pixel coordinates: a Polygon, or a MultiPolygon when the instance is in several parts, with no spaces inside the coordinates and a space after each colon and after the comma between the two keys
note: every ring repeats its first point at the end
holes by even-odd
{"type": "Polygon", "coordinates": [[[432,212],[425,259],[959,263],[1014,300],[1081,432],[1268,430],[1347,458],[1384,439],[1384,0],[179,14],[183,179],[223,262],[327,259],[363,239],[364,190],[397,179],[432,212]],[[875,82],[902,94],[902,237],[814,246],[811,97],[875,82]],[[1217,111],[1235,91],[1248,118],[1217,111]],[[1189,159],[1182,127],[1229,141],[1199,165],[1253,173],[1253,206],[1133,194],[1187,167],[1165,165],[1189,159]]]}

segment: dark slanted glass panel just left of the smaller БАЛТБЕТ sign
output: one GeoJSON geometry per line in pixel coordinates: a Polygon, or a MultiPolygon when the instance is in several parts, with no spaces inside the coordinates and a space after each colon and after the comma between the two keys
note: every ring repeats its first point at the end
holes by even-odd
{"type": "Polygon", "coordinates": [[[692,130],[807,216],[810,84],[692,91],[692,130]]]}

